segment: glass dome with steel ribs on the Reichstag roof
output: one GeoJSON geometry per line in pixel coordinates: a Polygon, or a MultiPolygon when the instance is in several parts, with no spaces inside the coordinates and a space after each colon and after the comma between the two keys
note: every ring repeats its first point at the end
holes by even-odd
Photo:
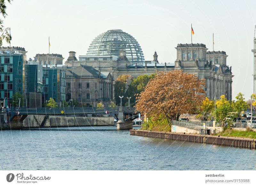
{"type": "Polygon", "coordinates": [[[140,44],[130,34],[119,29],[108,30],[97,36],[91,43],[87,54],[89,56],[116,55],[124,50],[128,61],[144,63],[144,55],[140,44]]]}

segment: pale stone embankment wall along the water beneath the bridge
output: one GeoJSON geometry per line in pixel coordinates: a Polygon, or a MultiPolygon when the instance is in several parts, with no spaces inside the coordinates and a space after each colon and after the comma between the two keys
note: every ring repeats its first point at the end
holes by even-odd
{"type": "Polygon", "coordinates": [[[113,117],[83,117],[83,116],[48,116],[28,115],[23,121],[23,128],[38,128],[44,122],[44,127],[67,126],[108,126],[114,125],[113,117]]]}

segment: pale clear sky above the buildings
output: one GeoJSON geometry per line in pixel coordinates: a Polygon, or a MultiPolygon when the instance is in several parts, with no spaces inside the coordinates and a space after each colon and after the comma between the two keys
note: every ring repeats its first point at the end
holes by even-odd
{"type": "MultiPolygon", "coordinates": [[[[253,37],[255,0],[14,0],[7,4],[4,26],[11,27],[11,46],[24,47],[27,59],[37,53],[85,55],[92,40],[110,29],[132,35],[145,60],[174,63],[178,43],[204,43],[212,51],[226,51],[232,66],[233,99],[253,93],[253,37]]],[[[6,42],[3,46],[8,46],[6,42]]]]}

